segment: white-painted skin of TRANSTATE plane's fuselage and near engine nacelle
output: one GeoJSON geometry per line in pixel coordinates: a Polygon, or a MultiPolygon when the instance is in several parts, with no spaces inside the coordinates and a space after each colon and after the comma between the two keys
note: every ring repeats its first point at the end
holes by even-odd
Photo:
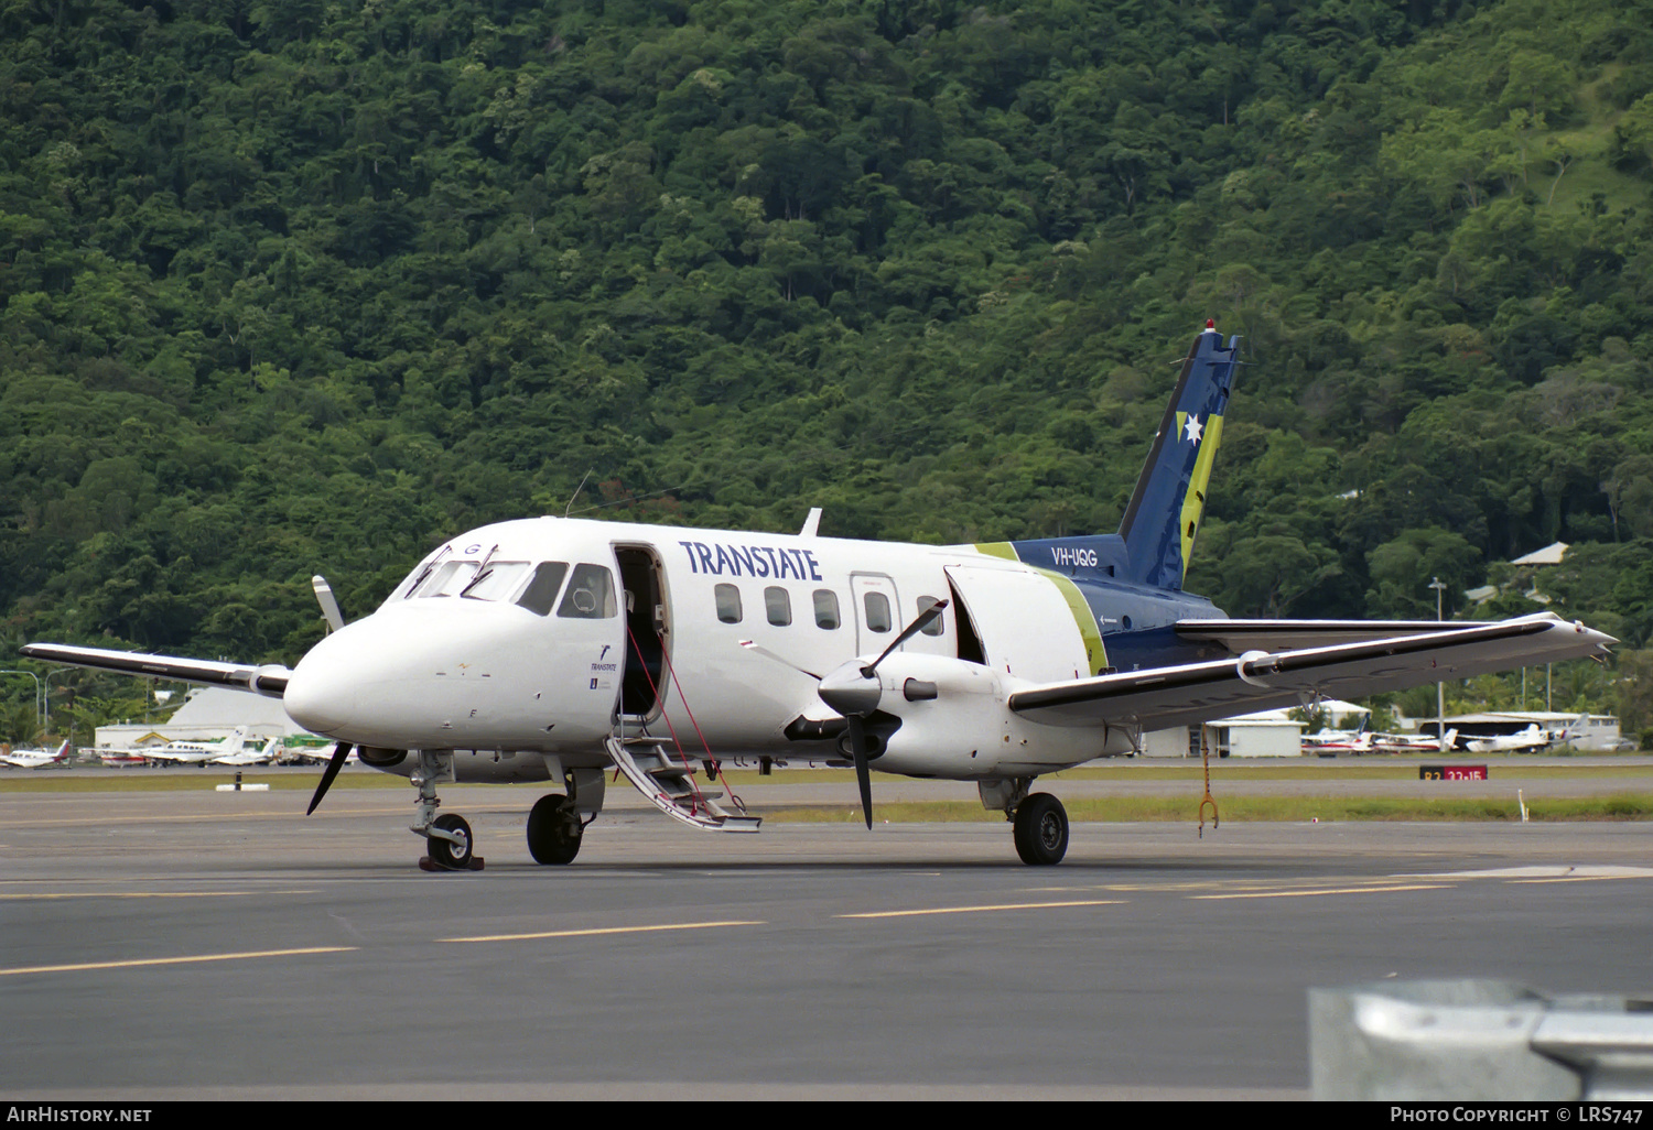
{"type": "MultiPolygon", "coordinates": [[[[567,562],[615,572],[617,547],[648,550],[658,563],[666,658],[660,679],[669,686],[665,717],[656,704],[648,717],[628,719],[626,730],[646,725],[665,737],[669,720],[686,748],[699,753],[698,727],[716,757],[836,755],[826,742],[800,743],[782,734],[800,715],[836,717],[815,694],[815,681],[741,648],[742,639],[825,674],[881,653],[917,615],[921,598],[952,600],[949,565],[972,567],[970,601],[977,605],[993,600],[993,586],[980,583],[982,568],[1000,570],[1018,598],[1028,578],[1038,578],[1025,565],[969,548],[565,519],[471,530],[430,560],[476,560],[483,568],[484,558],[567,562]],[[726,586],[722,605],[717,586],[726,586]],[[737,623],[727,623],[727,586],[739,596],[737,623]],[[780,598],[765,590],[782,590],[784,606],[774,608],[780,598]],[[836,626],[818,623],[817,593],[833,593],[836,626]],[[884,606],[888,615],[873,615],[884,606]],[[772,623],[788,615],[790,623],[772,623]]],[[[537,752],[557,753],[569,765],[598,763],[603,738],[617,730],[626,669],[626,595],[618,573],[617,608],[600,618],[541,615],[509,593],[408,598],[417,578],[418,570],[379,611],[304,658],[288,687],[289,714],[311,730],[359,745],[537,752]]],[[[1051,593],[1048,608],[1060,615],[1023,623],[1013,658],[995,654],[997,641],[984,639],[987,664],[959,662],[959,610],[942,618],[942,634],[916,634],[904,644],[898,667],[879,672],[884,702],[899,702],[903,717],[883,767],[972,778],[1050,772],[1112,752],[1104,748],[1104,734],[1043,727],[1005,709],[1012,689],[1088,674],[1079,624],[1055,586],[1051,593]],[[1028,636],[1036,648],[1027,646],[1028,636]],[[906,702],[901,684],[909,677],[937,682],[942,702],[906,702]]],[[[977,620],[1002,621],[1003,611],[982,606],[977,620]]],[[[820,620],[831,623],[825,613],[820,620]]]]}

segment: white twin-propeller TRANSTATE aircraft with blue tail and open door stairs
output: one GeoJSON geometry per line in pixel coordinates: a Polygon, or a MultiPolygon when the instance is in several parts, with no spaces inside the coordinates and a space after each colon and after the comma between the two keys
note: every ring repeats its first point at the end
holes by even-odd
{"type": "Polygon", "coordinates": [[[418,788],[426,869],[476,869],[445,781],[552,781],[527,821],[565,864],[605,770],[698,828],[757,831],[712,776],[726,757],[974,781],[1030,864],[1068,816],[1033,780],[1129,753],[1146,730],[1602,656],[1552,615],[1499,623],[1228,620],[1182,591],[1238,339],[1207,324],[1119,534],[899,545],[541,517],[443,542],[377,611],[294,669],[28,644],[23,654],[283,699],[334,738],[311,811],[354,750],[418,788]],[[679,742],[681,738],[681,742],[679,742]],[[696,770],[707,778],[703,785],[696,770]]]}

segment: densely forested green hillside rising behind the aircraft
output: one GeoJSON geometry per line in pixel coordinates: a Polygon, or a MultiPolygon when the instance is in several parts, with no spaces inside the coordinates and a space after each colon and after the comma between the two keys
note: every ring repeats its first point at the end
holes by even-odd
{"type": "Polygon", "coordinates": [[[1653,724],[1648,0],[7,0],[0,106],[7,646],[291,662],[311,573],[359,615],[587,476],[1112,530],[1215,317],[1190,588],[1511,615],[1572,542],[1625,644],[1555,705],[1653,724]]]}

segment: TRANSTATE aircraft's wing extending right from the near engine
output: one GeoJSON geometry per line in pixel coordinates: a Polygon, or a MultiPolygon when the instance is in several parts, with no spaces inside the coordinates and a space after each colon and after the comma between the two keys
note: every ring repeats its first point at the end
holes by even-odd
{"type": "MultiPolygon", "coordinates": [[[[1304,705],[1316,697],[1359,699],[1489,671],[1603,656],[1617,643],[1554,613],[1455,624],[1445,631],[1435,621],[1427,623],[1436,631],[1273,653],[1256,649],[1210,662],[1051,682],[1012,692],[1010,709],[1046,725],[1111,722],[1160,730],[1304,705]]],[[[1220,639],[1215,633],[1225,631],[1225,624],[1212,621],[1210,629],[1212,639],[1220,639]]],[[[1243,631],[1231,638],[1243,638],[1243,631]]]]}

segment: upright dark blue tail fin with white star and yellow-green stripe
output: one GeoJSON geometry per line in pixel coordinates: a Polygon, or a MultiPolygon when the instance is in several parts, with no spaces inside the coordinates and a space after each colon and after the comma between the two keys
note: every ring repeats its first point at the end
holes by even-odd
{"type": "Polygon", "coordinates": [[[1182,362],[1177,390],[1119,522],[1126,572],[1137,583],[1182,588],[1205,514],[1205,487],[1222,443],[1238,355],[1240,339],[1228,339],[1225,349],[1222,334],[1207,322],[1182,362]]]}

